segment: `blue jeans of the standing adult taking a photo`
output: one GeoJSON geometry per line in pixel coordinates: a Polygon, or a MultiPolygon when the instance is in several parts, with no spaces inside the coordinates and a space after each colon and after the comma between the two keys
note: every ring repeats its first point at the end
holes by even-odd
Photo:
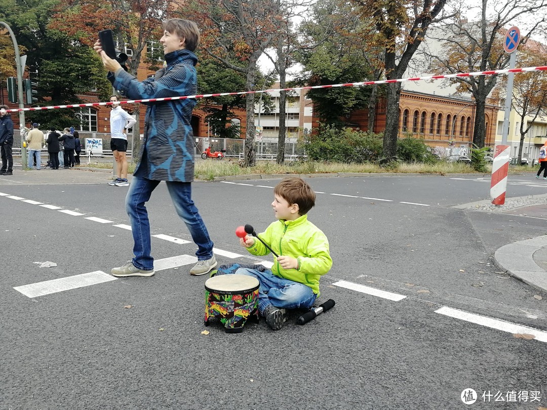
{"type": "MultiPolygon", "coordinates": [[[[150,199],[152,191],[161,181],[133,177],[125,197],[125,209],[131,221],[133,232],[133,265],[142,270],[154,269],[154,258],[150,255],[150,221],[144,204],[150,199]]],[[[166,181],[174,208],[184,221],[194,243],[197,245],[198,260],[213,257],[213,242],[207,228],[191,198],[191,183],[166,181]]]]}

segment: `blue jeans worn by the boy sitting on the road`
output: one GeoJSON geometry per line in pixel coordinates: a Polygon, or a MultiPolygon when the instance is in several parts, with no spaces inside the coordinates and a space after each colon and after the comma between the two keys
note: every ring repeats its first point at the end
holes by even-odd
{"type": "Polygon", "coordinates": [[[284,309],[309,309],[317,297],[310,286],[275,276],[269,269],[260,272],[255,269],[239,268],[234,274],[258,279],[258,313],[262,316],[264,309],[270,304],[284,309]]]}

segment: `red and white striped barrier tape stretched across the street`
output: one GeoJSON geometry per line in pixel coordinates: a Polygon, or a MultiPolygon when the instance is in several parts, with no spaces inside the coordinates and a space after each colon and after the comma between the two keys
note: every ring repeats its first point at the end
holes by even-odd
{"type": "MultiPolygon", "coordinates": [[[[456,74],[443,74],[443,75],[430,75],[429,77],[415,77],[415,78],[398,78],[393,80],[379,80],[379,81],[362,81],[360,83],[346,83],[346,84],[330,84],[330,85],[313,85],[307,87],[293,87],[284,89],[270,89],[259,91],[241,91],[241,92],[219,92],[216,94],[200,94],[181,97],[165,97],[165,98],[148,98],[148,99],[131,99],[129,101],[120,101],[120,104],[134,104],[156,101],[170,101],[173,99],[186,99],[186,98],[206,98],[206,97],[220,97],[226,95],[245,95],[259,92],[273,92],[273,91],[291,91],[291,90],[314,90],[322,88],[334,88],[334,87],[358,87],[361,85],[373,85],[373,84],[389,84],[389,83],[403,83],[404,81],[420,81],[420,80],[439,80],[443,78],[457,78],[457,77],[476,77],[478,75],[496,75],[507,73],[523,73],[530,71],[547,71],[547,66],[540,67],[525,67],[525,68],[507,68],[504,70],[492,70],[492,71],[478,71],[475,73],[456,73],[456,74]]],[[[30,107],[30,108],[14,108],[9,109],[8,112],[20,112],[20,111],[37,111],[37,110],[51,110],[57,108],[78,108],[78,107],[97,107],[97,106],[109,106],[112,102],[98,102],[98,103],[86,103],[86,104],[68,104],[66,106],[49,106],[49,107],[30,107]]]]}

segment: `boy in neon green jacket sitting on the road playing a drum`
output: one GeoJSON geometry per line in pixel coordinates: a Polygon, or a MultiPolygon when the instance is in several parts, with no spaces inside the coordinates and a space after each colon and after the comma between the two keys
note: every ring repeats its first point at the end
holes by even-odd
{"type": "MultiPolygon", "coordinates": [[[[235,274],[255,277],[260,282],[258,312],[271,329],[283,327],[285,309],[310,308],[319,296],[319,278],[330,270],[333,260],[325,234],[307,220],[315,205],[315,192],[301,178],[284,178],[274,188],[272,222],[260,239],[279,256],[271,270],[260,272],[239,268],[235,274]]],[[[252,236],[240,243],[253,255],[270,253],[252,236]]]]}

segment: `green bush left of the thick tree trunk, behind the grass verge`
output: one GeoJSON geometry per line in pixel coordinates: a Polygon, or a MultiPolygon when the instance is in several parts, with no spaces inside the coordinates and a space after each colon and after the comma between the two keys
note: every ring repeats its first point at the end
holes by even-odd
{"type": "Polygon", "coordinates": [[[351,128],[321,127],[307,146],[307,154],[312,161],[376,162],[382,153],[382,138],[382,134],[351,128]]]}

